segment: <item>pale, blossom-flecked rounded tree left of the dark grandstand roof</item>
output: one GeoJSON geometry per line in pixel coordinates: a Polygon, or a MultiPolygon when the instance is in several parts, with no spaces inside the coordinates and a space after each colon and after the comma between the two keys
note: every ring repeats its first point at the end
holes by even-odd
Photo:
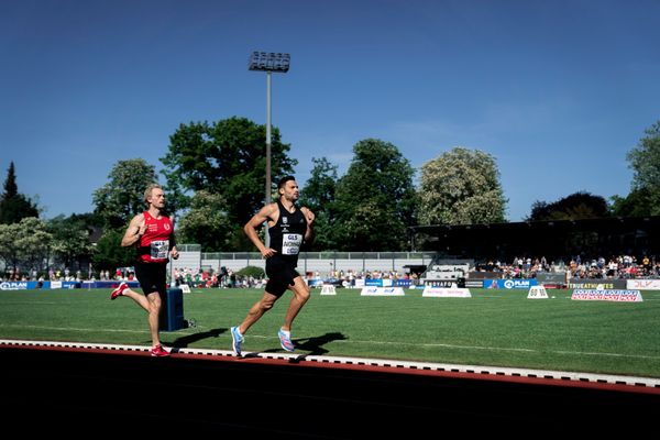
{"type": "Polygon", "coordinates": [[[425,163],[418,196],[420,224],[505,221],[495,158],[479,150],[455,147],[425,163]]]}

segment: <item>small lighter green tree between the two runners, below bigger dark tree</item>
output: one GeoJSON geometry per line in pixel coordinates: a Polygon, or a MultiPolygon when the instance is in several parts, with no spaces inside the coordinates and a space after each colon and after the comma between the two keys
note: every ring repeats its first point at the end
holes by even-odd
{"type": "Polygon", "coordinates": [[[227,251],[232,224],[226,208],[222,196],[205,189],[195,193],[190,210],[178,222],[177,241],[201,244],[205,252],[227,251]]]}

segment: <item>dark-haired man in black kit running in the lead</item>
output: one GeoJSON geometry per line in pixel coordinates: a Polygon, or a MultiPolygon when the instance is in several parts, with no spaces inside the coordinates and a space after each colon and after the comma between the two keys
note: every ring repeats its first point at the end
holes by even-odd
{"type": "Polygon", "coordinates": [[[300,246],[302,243],[310,243],[314,239],[315,216],[309,209],[296,206],[299,189],[294,176],[282,178],[277,184],[277,191],[279,200],[263,207],[243,228],[245,234],[266,258],[268,283],[263,297],[252,306],[243,322],[231,328],[232,349],[238,355],[241,355],[243,334],[273,307],[286,289],[292,290],[294,297],[277,336],[284,350],[294,351],[292,323],[309,299],[309,286],[296,272],[296,266],[300,246]],[[266,248],[256,233],[257,228],[265,221],[268,222],[271,248],[266,248]]]}

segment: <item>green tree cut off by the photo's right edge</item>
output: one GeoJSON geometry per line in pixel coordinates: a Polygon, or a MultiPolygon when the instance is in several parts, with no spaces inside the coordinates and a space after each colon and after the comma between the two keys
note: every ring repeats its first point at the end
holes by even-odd
{"type": "Polygon", "coordinates": [[[632,190],[613,199],[613,212],[622,217],[660,216],[660,121],[645,131],[626,158],[634,170],[632,190]]]}

